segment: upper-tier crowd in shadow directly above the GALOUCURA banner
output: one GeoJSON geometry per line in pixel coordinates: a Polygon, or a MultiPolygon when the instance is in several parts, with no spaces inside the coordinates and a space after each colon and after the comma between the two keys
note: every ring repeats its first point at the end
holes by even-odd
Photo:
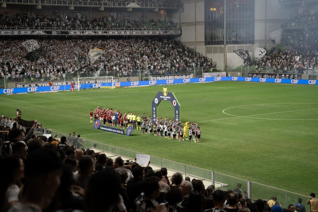
{"type": "Polygon", "coordinates": [[[167,22],[166,18],[164,20],[144,20],[143,16],[139,17],[138,20],[129,20],[114,18],[111,16],[103,16],[99,18],[88,18],[87,15],[84,17],[76,16],[65,16],[65,17],[55,17],[52,15],[36,15],[33,17],[28,17],[21,14],[9,14],[4,12],[0,14],[0,27],[6,28],[53,28],[53,29],[65,29],[65,28],[76,28],[76,29],[110,29],[110,28],[176,28],[177,23],[172,21],[167,22]]]}

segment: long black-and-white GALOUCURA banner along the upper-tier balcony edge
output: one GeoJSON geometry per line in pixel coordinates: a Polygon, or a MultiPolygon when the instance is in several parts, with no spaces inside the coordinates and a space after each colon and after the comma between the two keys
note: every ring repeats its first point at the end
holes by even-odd
{"type": "Polygon", "coordinates": [[[181,30],[0,30],[0,35],[181,35],[181,30]]]}

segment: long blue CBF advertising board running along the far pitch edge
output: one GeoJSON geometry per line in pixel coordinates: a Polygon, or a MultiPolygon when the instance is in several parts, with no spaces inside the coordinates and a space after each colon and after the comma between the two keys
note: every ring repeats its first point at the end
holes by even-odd
{"type": "MultiPolygon", "coordinates": [[[[259,73],[256,73],[259,74],[259,73]]],[[[297,78],[300,75],[297,75],[297,78]]],[[[130,86],[149,86],[149,85],[171,85],[183,83],[202,83],[202,82],[216,82],[216,81],[244,81],[244,82],[268,82],[268,83],[286,83],[286,84],[302,84],[302,85],[318,85],[318,80],[308,79],[278,79],[278,78],[252,78],[252,77],[204,77],[191,79],[167,79],[167,80],[150,80],[150,81],[133,81],[133,82],[115,82],[116,87],[130,87],[130,86]]],[[[93,83],[74,85],[74,89],[84,89],[85,86],[92,88],[100,88],[100,86],[107,86],[107,83],[93,83]]],[[[0,94],[14,94],[14,93],[30,93],[30,92],[52,92],[71,90],[71,85],[56,85],[56,86],[40,86],[40,87],[20,87],[20,88],[5,88],[0,89],[0,94]]],[[[162,93],[162,92],[160,92],[162,93]]]]}

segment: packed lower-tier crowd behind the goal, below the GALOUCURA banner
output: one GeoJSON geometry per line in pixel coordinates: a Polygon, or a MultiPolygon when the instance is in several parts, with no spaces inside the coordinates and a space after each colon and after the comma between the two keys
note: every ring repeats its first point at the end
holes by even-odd
{"type": "MultiPolygon", "coordinates": [[[[0,48],[6,50],[6,76],[10,81],[23,81],[19,75],[44,80],[62,77],[64,73],[89,72],[90,75],[104,71],[115,77],[131,76],[138,70],[172,69],[183,67],[206,67],[212,60],[194,52],[180,41],[171,38],[42,38],[37,39],[40,47],[44,47],[37,62],[24,58],[26,50],[21,43],[26,39],[2,38],[0,48]],[[106,50],[94,63],[77,64],[74,49],[78,48],[79,56],[86,58],[90,48],[106,50]],[[79,65],[77,67],[77,65],[79,65]]],[[[4,76],[4,53],[0,52],[0,75],[4,76]]],[[[88,60],[87,60],[88,61],[88,60]]],[[[164,74],[164,72],[160,72],[164,74]]]]}

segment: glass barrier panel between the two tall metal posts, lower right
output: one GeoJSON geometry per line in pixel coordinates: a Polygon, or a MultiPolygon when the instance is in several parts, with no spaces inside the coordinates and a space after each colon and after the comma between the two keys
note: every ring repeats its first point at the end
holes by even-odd
{"type": "MultiPolygon", "coordinates": [[[[244,195],[246,193],[245,195],[247,195],[248,181],[246,180],[242,180],[236,177],[231,177],[226,174],[214,172],[214,181],[215,181],[215,187],[218,187],[219,189],[234,190],[235,188],[240,187],[242,194],[244,195]]],[[[236,191],[239,193],[238,190],[236,191]]]]}

